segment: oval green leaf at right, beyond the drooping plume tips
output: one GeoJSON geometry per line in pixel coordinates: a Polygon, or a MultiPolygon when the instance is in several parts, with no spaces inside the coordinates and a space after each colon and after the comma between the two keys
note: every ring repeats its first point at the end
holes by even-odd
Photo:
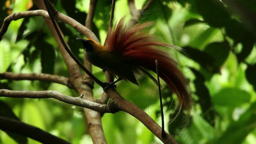
{"type": "Polygon", "coordinates": [[[250,98],[250,94],[244,90],[224,88],[212,97],[212,101],[216,106],[236,107],[250,102],[250,98]]]}

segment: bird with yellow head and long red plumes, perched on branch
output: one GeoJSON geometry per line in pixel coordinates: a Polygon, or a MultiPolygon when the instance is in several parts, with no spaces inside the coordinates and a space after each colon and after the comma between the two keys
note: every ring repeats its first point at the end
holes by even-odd
{"type": "Polygon", "coordinates": [[[145,73],[155,83],[156,79],[148,73],[156,73],[155,60],[158,60],[159,76],[174,92],[180,108],[191,108],[189,82],[179,69],[178,63],[164,48],[177,49],[176,46],[162,42],[161,38],[148,32],[154,22],[129,24],[125,17],[109,28],[104,46],[90,38],[80,40],[85,48],[86,59],[99,68],[109,71],[119,80],[123,79],[139,85],[135,75],[145,73]]]}

